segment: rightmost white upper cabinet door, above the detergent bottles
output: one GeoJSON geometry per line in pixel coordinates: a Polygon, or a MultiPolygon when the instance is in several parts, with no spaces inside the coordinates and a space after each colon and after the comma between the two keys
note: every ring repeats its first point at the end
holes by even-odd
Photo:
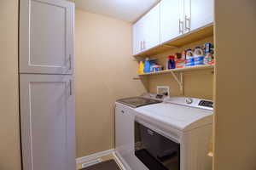
{"type": "Polygon", "coordinates": [[[186,32],[213,23],[214,0],[184,0],[184,2],[186,32]]]}

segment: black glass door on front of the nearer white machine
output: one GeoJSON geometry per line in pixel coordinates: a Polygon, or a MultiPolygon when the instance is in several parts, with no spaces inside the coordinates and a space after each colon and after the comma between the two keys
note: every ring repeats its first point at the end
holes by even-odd
{"type": "Polygon", "coordinates": [[[180,170],[180,144],[135,122],[135,156],[149,170],[180,170]]]}

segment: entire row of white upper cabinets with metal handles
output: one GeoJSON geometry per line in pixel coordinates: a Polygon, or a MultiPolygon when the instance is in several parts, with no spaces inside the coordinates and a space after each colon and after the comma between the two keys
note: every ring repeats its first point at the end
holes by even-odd
{"type": "Polygon", "coordinates": [[[140,54],[213,23],[214,0],[161,0],[133,26],[133,54],[140,54]]]}

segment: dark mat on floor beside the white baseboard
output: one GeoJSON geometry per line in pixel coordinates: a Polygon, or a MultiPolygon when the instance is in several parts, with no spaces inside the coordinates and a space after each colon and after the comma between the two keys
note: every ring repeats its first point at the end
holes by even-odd
{"type": "Polygon", "coordinates": [[[103,161],[90,167],[85,167],[83,170],[120,170],[120,168],[114,160],[110,160],[103,161]]]}

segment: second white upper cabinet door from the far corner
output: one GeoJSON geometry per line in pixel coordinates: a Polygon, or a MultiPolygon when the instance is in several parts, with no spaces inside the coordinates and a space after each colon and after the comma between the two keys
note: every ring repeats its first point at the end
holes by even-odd
{"type": "Polygon", "coordinates": [[[143,17],[143,51],[160,44],[160,3],[143,17]]]}

